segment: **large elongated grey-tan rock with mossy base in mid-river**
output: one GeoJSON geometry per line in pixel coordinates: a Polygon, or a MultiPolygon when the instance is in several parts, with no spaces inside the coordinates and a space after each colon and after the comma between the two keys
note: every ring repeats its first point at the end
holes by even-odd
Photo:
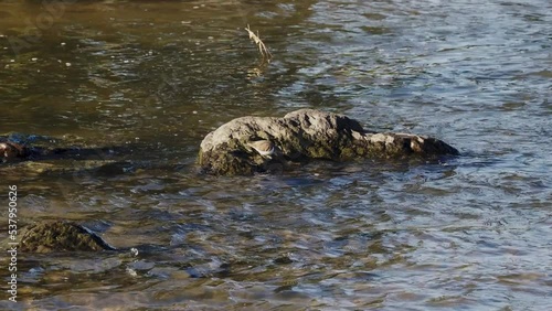
{"type": "Polygon", "coordinates": [[[429,137],[371,132],[343,115],[300,109],[284,116],[242,117],[210,132],[199,162],[214,174],[280,171],[308,160],[457,156],[458,150],[429,137]],[[266,149],[266,150],[265,150],[266,149]]]}

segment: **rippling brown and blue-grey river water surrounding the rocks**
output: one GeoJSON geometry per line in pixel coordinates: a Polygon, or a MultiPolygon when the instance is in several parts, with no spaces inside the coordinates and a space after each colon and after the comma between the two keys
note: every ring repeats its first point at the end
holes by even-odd
{"type": "Polygon", "coordinates": [[[0,133],[125,151],[2,164],[1,184],[21,225],[123,250],[19,254],[0,308],[552,309],[549,0],[44,2],[0,2],[0,133]],[[222,124],[306,107],[463,156],[198,170],[222,124]]]}

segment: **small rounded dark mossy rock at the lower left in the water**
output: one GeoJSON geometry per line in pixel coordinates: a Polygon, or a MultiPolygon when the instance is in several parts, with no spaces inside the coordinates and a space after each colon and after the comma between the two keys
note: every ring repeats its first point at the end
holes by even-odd
{"type": "Polygon", "coordinates": [[[26,228],[21,237],[23,253],[114,250],[99,236],[72,222],[40,222],[26,228]]]}

